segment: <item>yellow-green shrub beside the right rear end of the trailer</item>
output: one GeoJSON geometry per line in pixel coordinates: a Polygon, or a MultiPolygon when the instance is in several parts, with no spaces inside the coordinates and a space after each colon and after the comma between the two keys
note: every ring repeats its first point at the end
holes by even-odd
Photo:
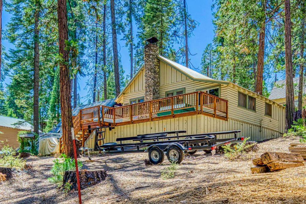
{"type": "Polygon", "coordinates": [[[256,143],[247,144],[248,139],[250,138],[245,138],[243,142],[236,143],[233,147],[231,147],[231,144],[223,145],[224,157],[230,161],[250,159],[251,156],[246,154],[245,150],[250,149],[256,143]]]}

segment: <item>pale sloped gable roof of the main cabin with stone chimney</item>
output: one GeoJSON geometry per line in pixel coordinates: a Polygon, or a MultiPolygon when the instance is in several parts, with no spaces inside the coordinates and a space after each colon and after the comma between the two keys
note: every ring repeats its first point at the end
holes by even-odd
{"type": "MultiPolygon", "coordinates": [[[[211,82],[211,83],[222,83],[222,84],[228,84],[230,82],[228,81],[222,81],[222,80],[215,80],[212,79],[208,76],[205,76],[199,72],[194,71],[193,69],[190,69],[188,67],[185,67],[184,65],[181,65],[175,61],[172,61],[170,59],[167,59],[166,57],[162,57],[161,55],[157,56],[157,58],[168,64],[169,66],[171,66],[172,68],[176,69],[178,72],[184,74],[185,76],[187,76],[188,78],[190,78],[191,80],[194,81],[204,81],[204,82],[211,82]]],[[[124,87],[124,89],[121,91],[121,93],[118,95],[118,97],[116,98],[119,99],[121,97],[121,95],[125,92],[125,90],[130,86],[130,84],[132,83],[132,81],[134,81],[134,79],[137,77],[137,75],[141,72],[141,70],[144,69],[144,65],[141,66],[141,68],[136,72],[136,74],[133,76],[133,78],[129,81],[129,83],[124,87]]]]}

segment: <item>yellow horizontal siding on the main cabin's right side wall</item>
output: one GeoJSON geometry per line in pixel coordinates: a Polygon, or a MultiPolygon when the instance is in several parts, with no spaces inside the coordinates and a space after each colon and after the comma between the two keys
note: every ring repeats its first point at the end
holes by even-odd
{"type": "MultiPolygon", "coordinates": [[[[254,124],[257,126],[262,126],[264,128],[269,128],[274,131],[280,131],[283,129],[282,127],[280,128],[280,125],[282,126],[284,122],[280,121],[279,119],[280,116],[285,115],[283,107],[275,105],[275,103],[272,104],[272,116],[266,116],[265,102],[268,102],[268,99],[258,98],[254,93],[252,94],[250,91],[246,91],[245,89],[240,89],[239,87],[235,86],[228,86],[227,90],[227,99],[229,101],[229,118],[244,121],[246,123],[254,124]],[[256,98],[256,111],[238,106],[238,91],[256,98]]],[[[283,133],[284,131],[281,132],[283,133]]]]}

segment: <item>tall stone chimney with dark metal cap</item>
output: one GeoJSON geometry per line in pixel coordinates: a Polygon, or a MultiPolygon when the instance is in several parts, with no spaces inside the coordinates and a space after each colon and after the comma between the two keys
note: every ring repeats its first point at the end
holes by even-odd
{"type": "Polygon", "coordinates": [[[144,46],[144,80],[145,92],[144,101],[150,101],[159,98],[159,60],[158,39],[155,37],[146,39],[144,46]]]}

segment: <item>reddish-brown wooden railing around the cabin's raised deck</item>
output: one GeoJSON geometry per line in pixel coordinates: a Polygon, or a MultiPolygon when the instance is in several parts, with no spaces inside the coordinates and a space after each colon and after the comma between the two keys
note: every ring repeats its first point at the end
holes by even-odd
{"type": "Polygon", "coordinates": [[[80,109],[79,114],[73,117],[73,126],[99,122],[99,118],[103,122],[102,116],[104,122],[120,125],[196,114],[227,120],[228,101],[196,91],[127,106],[94,106],[80,109]]]}

